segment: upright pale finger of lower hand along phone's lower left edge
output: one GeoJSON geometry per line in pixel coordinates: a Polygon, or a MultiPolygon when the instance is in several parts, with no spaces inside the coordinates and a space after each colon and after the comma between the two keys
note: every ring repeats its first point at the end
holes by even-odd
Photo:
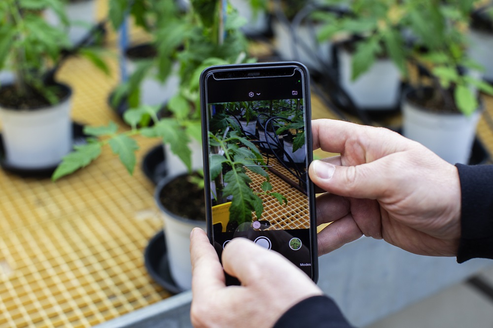
{"type": "Polygon", "coordinates": [[[210,289],[226,286],[222,265],[204,230],[194,228],[190,234],[190,259],[192,262],[192,292],[208,293],[210,289]]]}

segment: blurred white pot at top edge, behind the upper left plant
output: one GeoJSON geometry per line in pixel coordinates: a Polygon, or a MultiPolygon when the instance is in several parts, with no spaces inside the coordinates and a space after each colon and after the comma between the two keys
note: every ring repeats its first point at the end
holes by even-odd
{"type": "MultiPolygon", "coordinates": [[[[68,2],[65,11],[70,23],[68,31],[70,42],[76,44],[82,41],[91,28],[97,24],[96,0],[68,2]]],[[[58,16],[51,9],[45,10],[44,17],[53,26],[62,25],[58,16]]]]}

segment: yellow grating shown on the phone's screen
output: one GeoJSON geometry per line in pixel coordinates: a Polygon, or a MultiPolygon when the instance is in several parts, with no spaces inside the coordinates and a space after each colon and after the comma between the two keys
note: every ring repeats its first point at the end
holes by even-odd
{"type": "MultiPolygon", "coordinates": [[[[271,158],[269,164],[273,164],[275,161],[275,159],[271,158]]],[[[281,165],[277,164],[276,166],[281,165]]],[[[252,180],[250,188],[261,192],[261,185],[265,178],[251,171],[247,171],[246,174],[252,180]]],[[[275,197],[260,195],[264,204],[264,211],[260,220],[269,221],[271,224],[266,230],[310,228],[310,211],[307,196],[292,188],[272,172],[269,172],[269,182],[272,185],[272,192],[280,193],[286,197],[288,203],[287,205],[281,204],[275,197]]],[[[254,215],[252,215],[252,218],[256,220],[254,215]]]]}

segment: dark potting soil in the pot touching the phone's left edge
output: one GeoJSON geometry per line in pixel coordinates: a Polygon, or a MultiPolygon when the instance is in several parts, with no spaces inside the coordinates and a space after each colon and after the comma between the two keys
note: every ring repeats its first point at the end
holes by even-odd
{"type": "MultiPolygon", "coordinates": [[[[198,177],[198,175],[197,175],[198,177]]],[[[178,216],[203,221],[206,218],[204,189],[189,181],[189,175],[181,175],[161,191],[159,200],[178,216]]]]}

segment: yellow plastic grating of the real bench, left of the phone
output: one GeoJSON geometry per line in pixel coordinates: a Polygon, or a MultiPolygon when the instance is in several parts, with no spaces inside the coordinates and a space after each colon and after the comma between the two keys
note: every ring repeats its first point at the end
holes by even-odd
{"type": "MultiPolygon", "coordinates": [[[[112,77],[76,58],[58,78],[73,88],[74,121],[128,129],[106,104],[118,81],[117,56],[107,60],[112,77]]],[[[171,295],[143,263],[162,222],[140,170],[159,141],[139,141],[134,176],[109,149],[57,183],[0,170],[1,328],[91,327],[171,295]]]]}

